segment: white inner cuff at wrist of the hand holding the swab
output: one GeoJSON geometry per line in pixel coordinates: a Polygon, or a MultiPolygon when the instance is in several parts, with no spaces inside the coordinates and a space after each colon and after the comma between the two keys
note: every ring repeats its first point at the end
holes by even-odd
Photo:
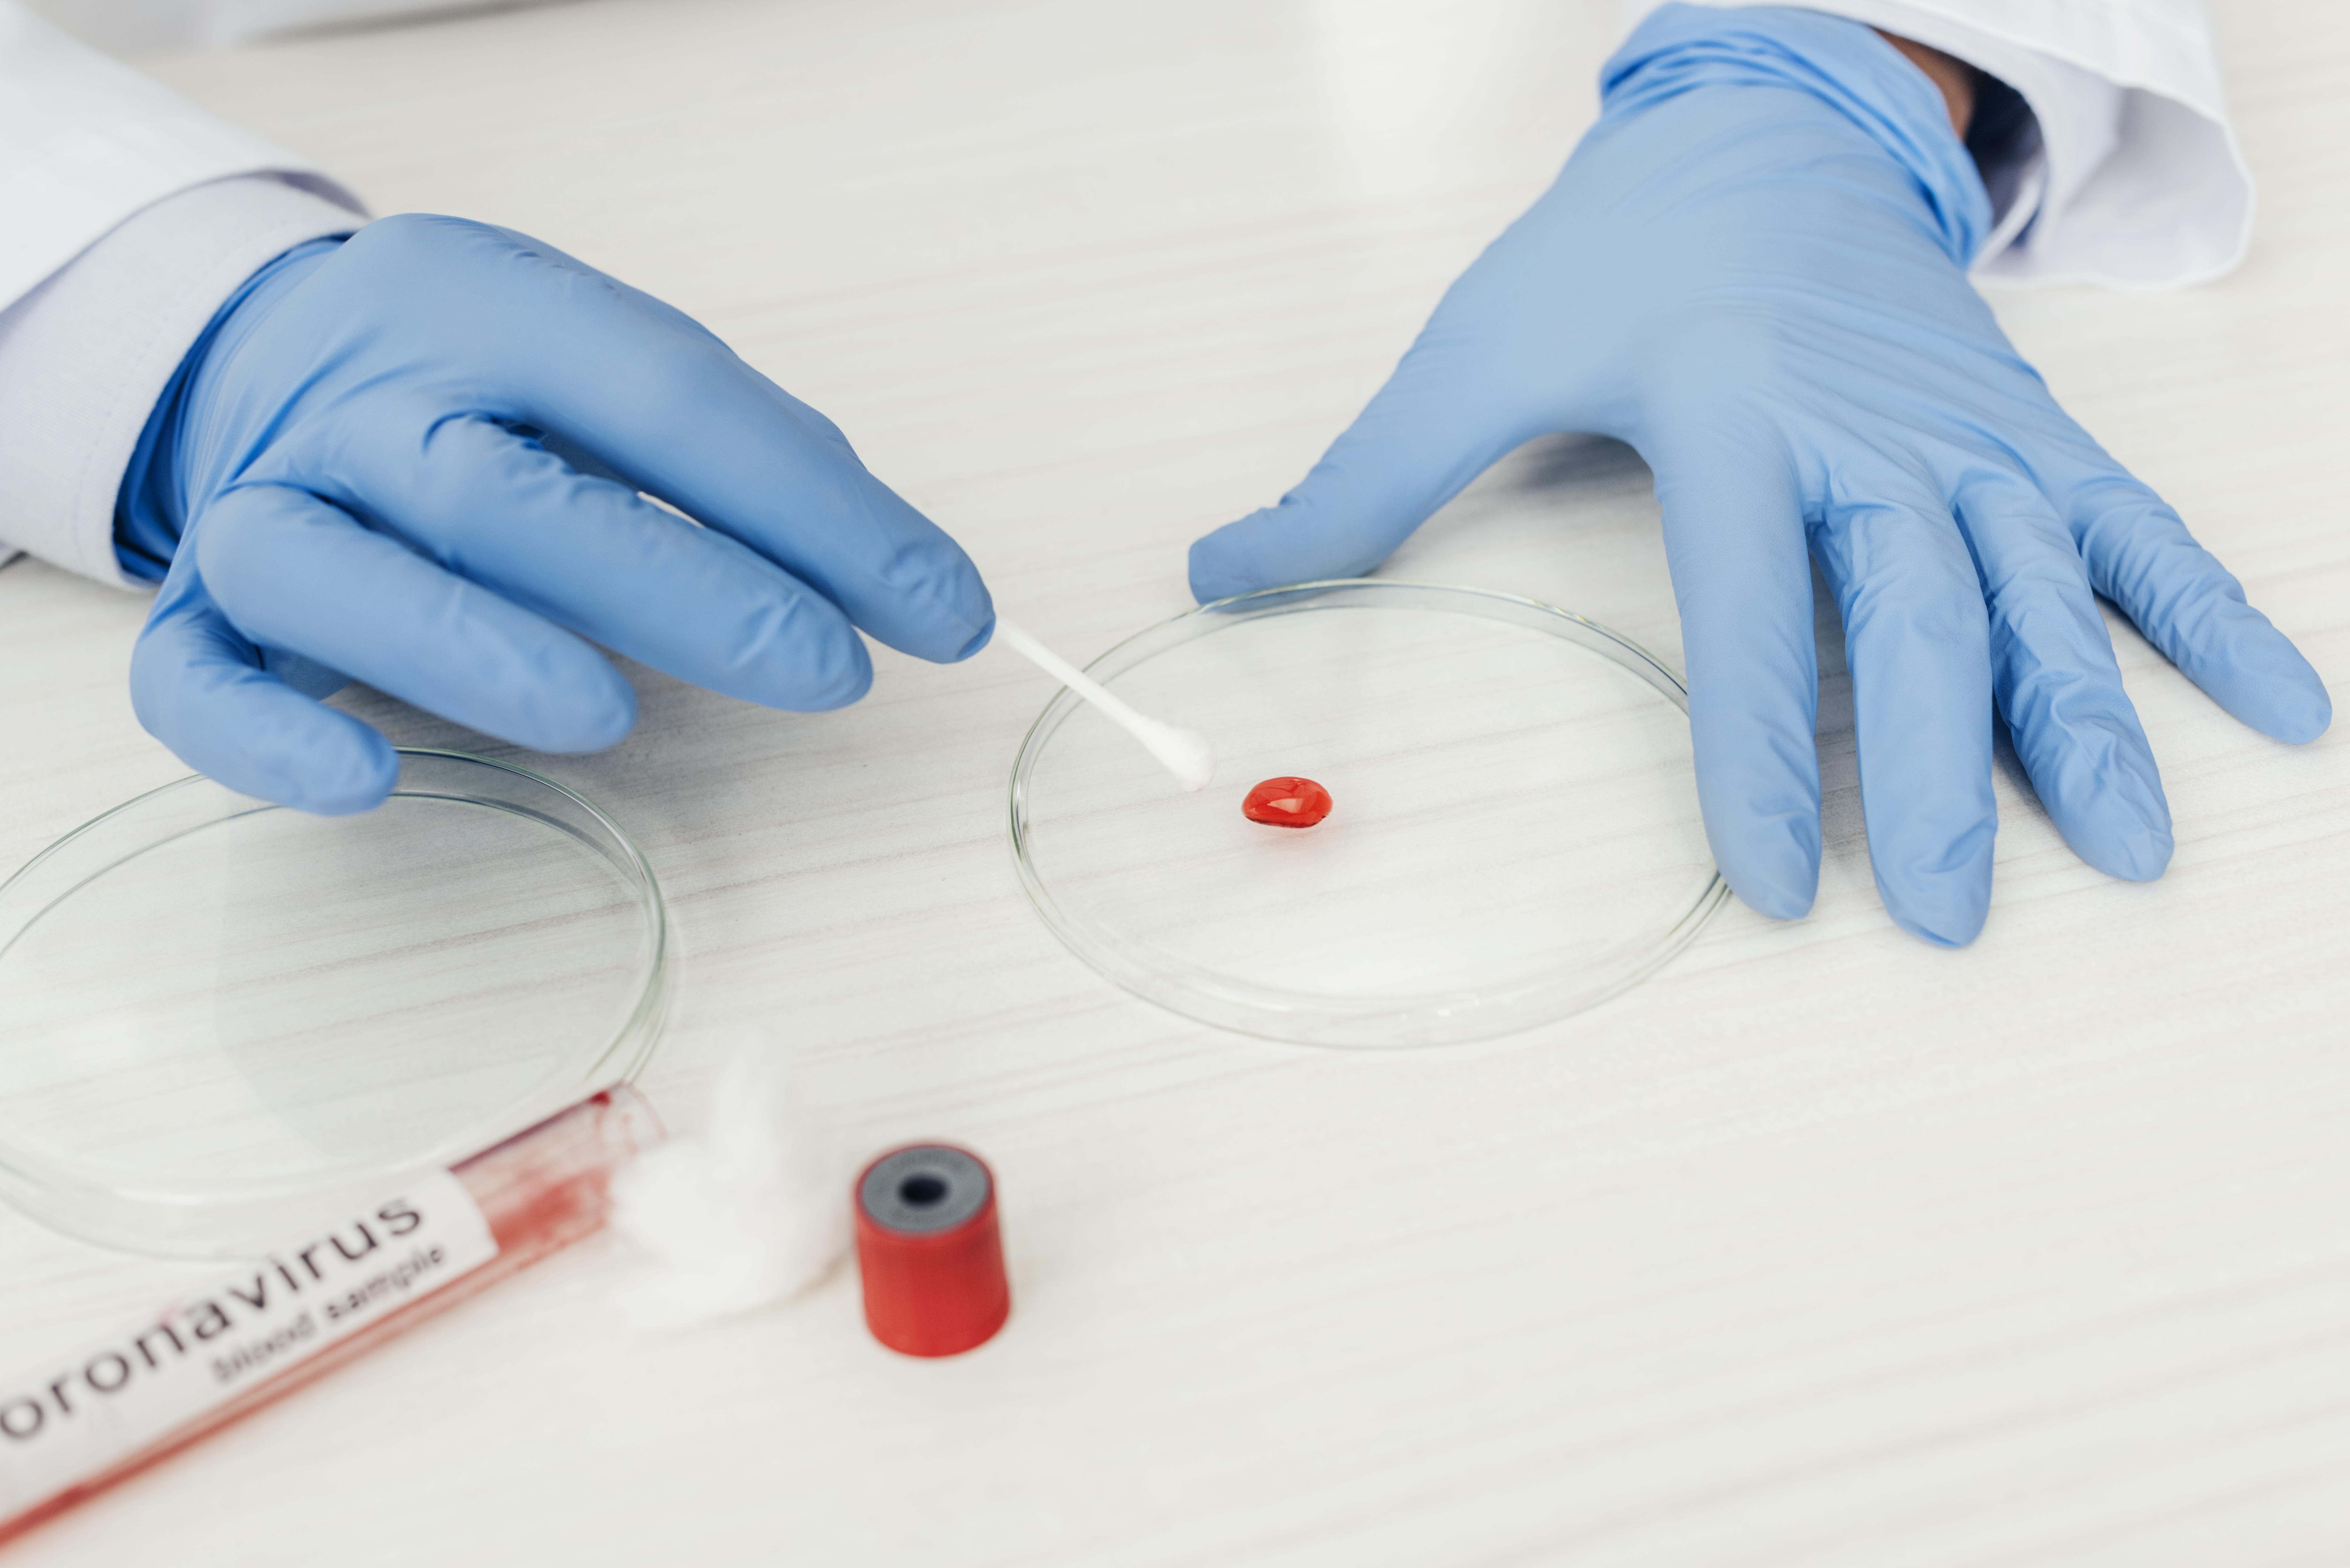
{"type": "Polygon", "coordinates": [[[132,214],[0,310],[0,559],[14,545],[146,588],[115,562],[115,494],[164,383],[263,263],[362,221],[282,179],[223,179],[132,214]]]}

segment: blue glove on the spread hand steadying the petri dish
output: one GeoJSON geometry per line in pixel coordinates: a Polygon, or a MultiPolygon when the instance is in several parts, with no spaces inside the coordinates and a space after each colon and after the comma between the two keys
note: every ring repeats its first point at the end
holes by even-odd
{"type": "Polygon", "coordinates": [[[1845,616],[1878,891],[1950,945],[1990,903],[1993,703],[2084,860],[2169,863],[2094,595],[2244,724],[2324,731],[2310,665],[1969,287],[1983,186],[1892,45],[1671,5],[1607,61],[1603,103],[1304,484],[1191,545],[1203,602],[1368,571],[1535,435],[1626,440],[1657,475],[1730,886],[1777,917],[1819,886],[1810,550],[1845,616]]]}

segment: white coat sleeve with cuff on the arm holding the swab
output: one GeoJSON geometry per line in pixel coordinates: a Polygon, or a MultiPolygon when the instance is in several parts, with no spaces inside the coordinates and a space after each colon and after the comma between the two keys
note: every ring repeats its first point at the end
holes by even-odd
{"type": "Polygon", "coordinates": [[[125,583],[132,447],[212,315],[355,197],[0,0],[0,559],[125,583]]]}

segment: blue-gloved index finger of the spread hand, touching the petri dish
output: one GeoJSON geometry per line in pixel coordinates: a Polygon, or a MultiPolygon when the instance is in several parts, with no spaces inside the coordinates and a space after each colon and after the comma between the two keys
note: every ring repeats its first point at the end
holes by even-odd
{"type": "Polygon", "coordinates": [[[1819,893],[1819,661],[1802,496],[1746,442],[1659,454],[1657,501],[1690,663],[1706,842],[1732,891],[1774,919],[1819,893]]]}

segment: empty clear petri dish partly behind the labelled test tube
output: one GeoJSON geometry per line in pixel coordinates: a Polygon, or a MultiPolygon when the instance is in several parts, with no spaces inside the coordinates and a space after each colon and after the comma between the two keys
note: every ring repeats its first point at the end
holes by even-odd
{"type": "Polygon", "coordinates": [[[209,778],[0,884],[0,1197],[68,1234],[254,1255],[634,1077],[660,886],[562,785],[402,750],[376,811],[209,778]]]}

